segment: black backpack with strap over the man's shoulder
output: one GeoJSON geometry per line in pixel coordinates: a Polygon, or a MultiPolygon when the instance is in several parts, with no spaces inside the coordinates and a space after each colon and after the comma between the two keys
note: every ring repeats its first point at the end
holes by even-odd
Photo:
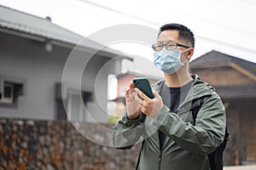
{"type": "MultiPolygon", "coordinates": [[[[204,98],[195,99],[192,101],[192,105],[190,106],[189,111],[192,111],[192,116],[194,120],[193,125],[195,125],[195,118],[203,102],[204,102],[204,98]]],[[[224,141],[218,146],[216,150],[212,151],[212,153],[208,155],[211,170],[223,170],[223,152],[225,150],[225,147],[229,138],[230,138],[230,134],[228,132],[228,128],[226,125],[225,133],[224,133],[224,141]]]]}

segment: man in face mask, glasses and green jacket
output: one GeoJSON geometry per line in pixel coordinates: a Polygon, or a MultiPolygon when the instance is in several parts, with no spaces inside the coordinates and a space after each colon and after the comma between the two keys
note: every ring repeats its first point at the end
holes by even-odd
{"type": "Polygon", "coordinates": [[[125,91],[126,112],[113,126],[113,144],[129,149],[143,136],[137,169],[209,170],[207,155],[224,139],[224,105],[214,88],[189,74],[195,38],[186,26],[160,27],[154,65],[165,80],[152,87],[149,99],[133,83],[125,91]],[[192,100],[203,99],[195,122],[185,110],[192,100]]]}

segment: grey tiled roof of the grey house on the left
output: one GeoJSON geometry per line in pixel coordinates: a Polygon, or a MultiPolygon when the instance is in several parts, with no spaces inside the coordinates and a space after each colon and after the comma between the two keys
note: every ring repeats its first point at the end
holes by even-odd
{"type": "MultiPolygon", "coordinates": [[[[84,39],[84,37],[79,34],[55,25],[49,19],[41,18],[32,14],[26,14],[19,10],[4,7],[2,5],[0,5],[0,28],[1,27],[3,29],[20,31],[26,34],[45,37],[73,45],[78,44],[84,39]]],[[[112,54],[121,54],[121,52],[112,48],[102,48],[101,44],[91,41],[88,38],[86,38],[85,42],[80,45],[86,48],[103,49],[103,51],[112,54]]]]}

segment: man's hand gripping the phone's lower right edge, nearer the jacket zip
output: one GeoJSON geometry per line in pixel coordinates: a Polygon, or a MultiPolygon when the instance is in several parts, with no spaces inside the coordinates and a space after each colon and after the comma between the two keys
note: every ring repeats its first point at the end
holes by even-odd
{"type": "Polygon", "coordinates": [[[157,92],[154,92],[154,99],[150,99],[146,94],[143,94],[143,92],[140,89],[134,89],[137,92],[137,94],[139,94],[139,96],[141,97],[136,97],[137,103],[140,105],[140,111],[142,111],[143,114],[147,116],[157,116],[157,113],[164,106],[163,100],[160,97],[160,95],[157,92]]]}

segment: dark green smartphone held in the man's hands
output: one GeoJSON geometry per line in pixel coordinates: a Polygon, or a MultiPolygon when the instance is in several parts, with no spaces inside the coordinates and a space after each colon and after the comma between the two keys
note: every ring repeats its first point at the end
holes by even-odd
{"type": "Polygon", "coordinates": [[[139,88],[144,94],[148,96],[148,98],[154,99],[154,94],[152,92],[152,89],[147,77],[134,78],[132,82],[135,88],[139,88]]]}

